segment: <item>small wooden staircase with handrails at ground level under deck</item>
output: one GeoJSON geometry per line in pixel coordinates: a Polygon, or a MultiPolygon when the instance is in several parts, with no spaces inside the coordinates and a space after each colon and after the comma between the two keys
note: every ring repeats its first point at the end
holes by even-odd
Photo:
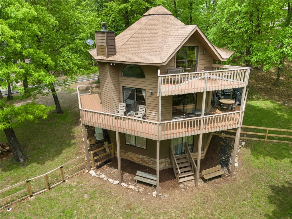
{"type": "Polygon", "coordinates": [[[176,156],[174,155],[172,148],[170,148],[169,157],[175,178],[179,183],[195,179],[197,166],[187,145],[185,146],[184,154],[176,156]]]}

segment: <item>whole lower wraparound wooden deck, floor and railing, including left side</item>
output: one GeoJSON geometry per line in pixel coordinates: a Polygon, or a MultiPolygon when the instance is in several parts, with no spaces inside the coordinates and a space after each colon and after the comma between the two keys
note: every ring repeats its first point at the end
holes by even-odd
{"type": "MultiPolygon", "coordinates": [[[[99,85],[77,86],[82,124],[118,131],[153,140],[165,140],[200,133],[237,128],[241,125],[242,110],[203,117],[188,117],[157,122],[102,112],[99,85]]],[[[246,97],[243,102],[245,105],[246,97]]]]}

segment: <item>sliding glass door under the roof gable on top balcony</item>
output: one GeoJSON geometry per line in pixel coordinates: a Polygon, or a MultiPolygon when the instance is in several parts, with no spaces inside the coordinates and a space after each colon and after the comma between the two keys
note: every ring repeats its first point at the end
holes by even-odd
{"type": "Polygon", "coordinates": [[[176,53],[176,67],[185,72],[197,72],[199,46],[183,46],[176,53]]]}

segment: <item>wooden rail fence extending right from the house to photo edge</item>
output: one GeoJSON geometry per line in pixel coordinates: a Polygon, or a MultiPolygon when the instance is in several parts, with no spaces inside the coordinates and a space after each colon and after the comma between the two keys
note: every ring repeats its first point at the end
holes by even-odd
{"type": "MultiPolygon", "coordinates": [[[[290,129],[281,129],[281,128],[266,128],[266,127],[258,127],[258,126],[242,126],[242,128],[247,128],[247,129],[260,129],[260,130],[266,130],[264,133],[263,132],[252,132],[252,131],[243,131],[243,129],[241,129],[240,134],[244,134],[245,136],[240,136],[241,139],[248,139],[248,140],[258,140],[258,141],[265,141],[265,142],[281,142],[281,143],[292,143],[292,130],[290,129]],[[284,132],[280,134],[272,134],[271,131],[275,132],[284,132]],[[286,134],[286,133],[287,134],[286,134]],[[289,133],[289,134],[288,134],[289,133]],[[291,133],[291,134],[290,134],[291,133]],[[249,137],[247,137],[247,135],[249,137]],[[264,138],[259,138],[259,136],[257,138],[253,138],[250,137],[250,135],[259,135],[259,136],[265,136],[264,138]],[[289,138],[291,139],[285,139],[285,140],[275,140],[275,139],[269,139],[268,137],[274,137],[274,138],[289,138]]],[[[214,133],[214,135],[219,135],[219,136],[224,136],[224,137],[230,137],[230,138],[235,138],[235,135],[226,135],[223,134],[224,132],[231,132],[231,133],[236,133],[235,130],[224,130],[221,131],[220,133],[214,133]]]]}

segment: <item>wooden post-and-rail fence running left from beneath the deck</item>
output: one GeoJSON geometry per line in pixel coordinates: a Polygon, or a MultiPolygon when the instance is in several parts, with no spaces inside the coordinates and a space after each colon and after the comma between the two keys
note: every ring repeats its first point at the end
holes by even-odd
{"type": "MultiPolygon", "coordinates": [[[[109,144],[97,150],[94,150],[90,153],[92,167],[94,167],[106,161],[107,159],[114,157],[114,145],[109,144]],[[93,157],[95,152],[98,152],[103,149],[106,150],[105,153],[93,157]],[[105,157],[107,154],[110,154],[110,156],[105,157]],[[102,161],[99,161],[98,163],[94,163],[94,160],[101,157],[105,158],[102,161]]],[[[0,209],[8,206],[9,204],[13,204],[14,202],[25,199],[27,197],[32,197],[42,192],[48,191],[53,187],[65,182],[66,179],[72,177],[73,175],[76,175],[81,171],[84,171],[87,168],[86,161],[84,159],[85,156],[86,155],[84,154],[45,174],[36,176],[28,180],[24,180],[20,183],[16,183],[15,185],[2,189],[0,191],[1,196],[0,209]]]]}

